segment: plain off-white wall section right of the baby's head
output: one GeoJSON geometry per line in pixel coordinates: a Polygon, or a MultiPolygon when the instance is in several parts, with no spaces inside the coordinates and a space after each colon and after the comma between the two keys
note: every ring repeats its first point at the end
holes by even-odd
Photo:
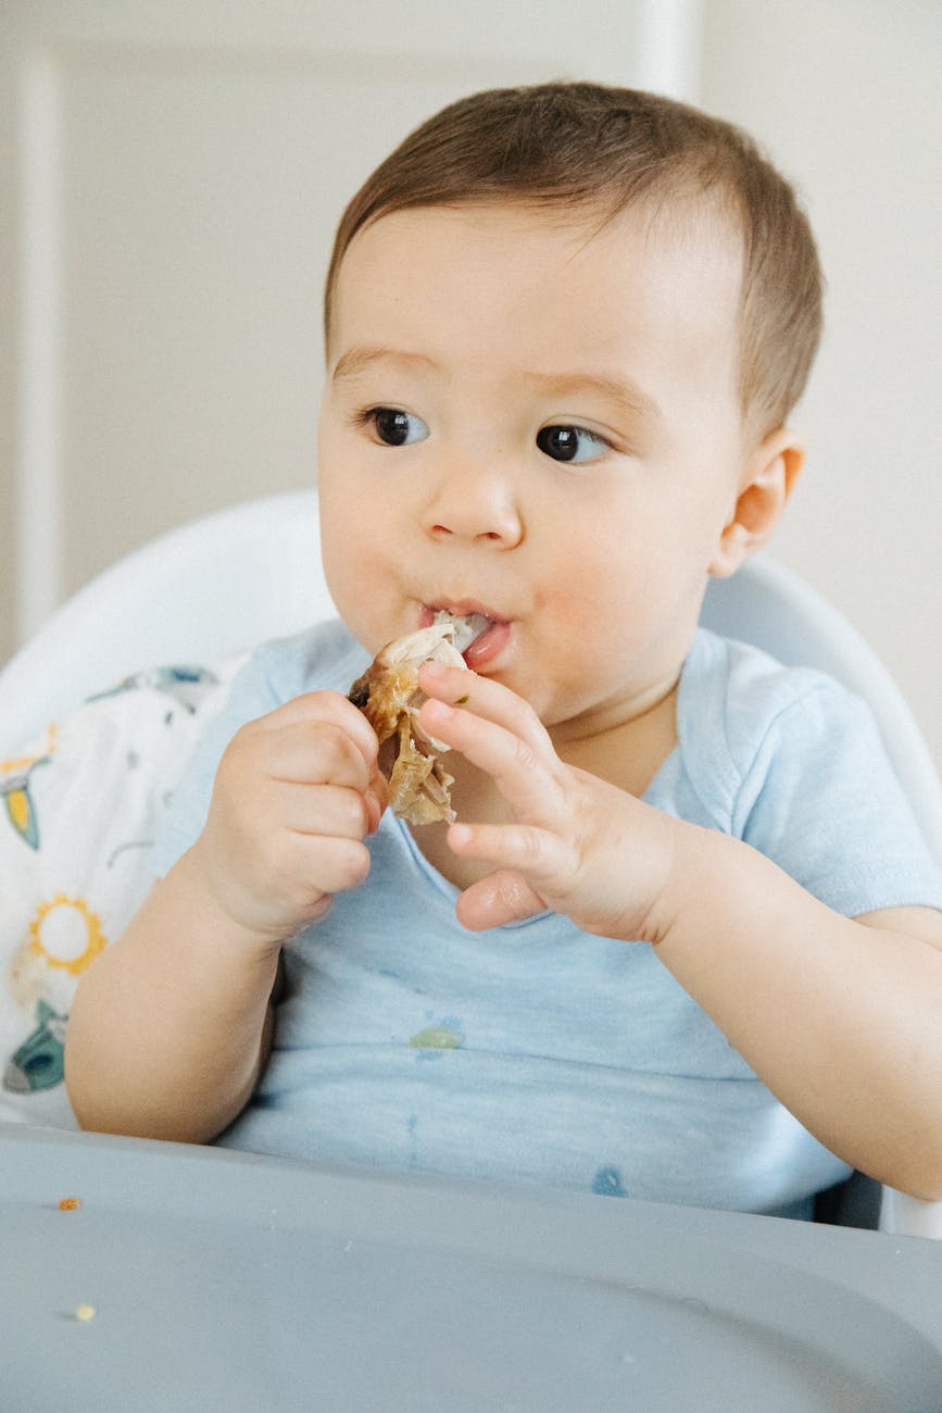
{"type": "Polygon", "coordinates": [[[716,0],[702,103],[804,192],[826,331],[774,557],[891,668],[942,767],[942,4],[716,0]]]}

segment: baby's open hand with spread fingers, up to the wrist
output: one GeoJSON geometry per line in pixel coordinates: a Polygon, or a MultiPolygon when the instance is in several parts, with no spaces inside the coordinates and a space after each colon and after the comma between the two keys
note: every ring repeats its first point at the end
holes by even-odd
{"type": "Polygon", "coordinates": [[[455,853],[494,866],[462,893],[459,921],[480,930],[549,909],[586,933],[657,942],[679,821],[562,762],[532,708],[500,682],[439,663],[419,682],[422,729],[486,771],[513,820],[451,825],[455,853]]]}

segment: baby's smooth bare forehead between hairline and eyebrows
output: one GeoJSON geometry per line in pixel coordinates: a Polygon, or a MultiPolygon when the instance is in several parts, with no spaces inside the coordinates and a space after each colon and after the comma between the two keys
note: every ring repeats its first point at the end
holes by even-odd
{"type": "MultiPolygon", "coordinates": [[[[339,271],[330,376],[378,369],[377,348],[411,370],[480,363],[734,369],[741,239],[716,203],[466,202],[387,212],[350,243],[339,271]],[[401,363],[401,359],[400,359],[401,363]]],[[[388,357],[386,359],[388,365],[388,357]]]]}

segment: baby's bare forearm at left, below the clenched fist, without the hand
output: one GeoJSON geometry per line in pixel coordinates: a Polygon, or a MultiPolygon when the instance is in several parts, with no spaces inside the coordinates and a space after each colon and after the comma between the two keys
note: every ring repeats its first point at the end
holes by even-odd
{"type": "Polygon", "coordinates": [[[277,966],[278,945],[239,928],[185,853],[76,991],[65,1080],[82,1128],[220,1133],[258,1077],[277,966]]]}

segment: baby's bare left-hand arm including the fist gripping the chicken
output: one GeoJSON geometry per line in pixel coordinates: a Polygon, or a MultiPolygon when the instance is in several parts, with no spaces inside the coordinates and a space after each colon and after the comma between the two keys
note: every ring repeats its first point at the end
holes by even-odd
{"type": "Polygon", "coordinates": [[[282,942],[369,870],[376,752],[333,692],[233,738],[198,841],[76,991],[65,1078],[83,1128],[199,1143],[236,1118],[271,1041],[282,942]]]}

